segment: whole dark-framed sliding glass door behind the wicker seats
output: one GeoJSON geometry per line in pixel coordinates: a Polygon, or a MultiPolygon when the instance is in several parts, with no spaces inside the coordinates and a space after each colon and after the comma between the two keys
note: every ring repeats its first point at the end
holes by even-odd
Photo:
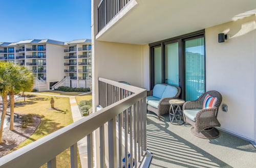
{"type": "Polygon", "coordinates": [[[151,46],[151,88],[168,83],[181,88],[181,99],[196,100],[205,92],[204,30],[151,46]]]}

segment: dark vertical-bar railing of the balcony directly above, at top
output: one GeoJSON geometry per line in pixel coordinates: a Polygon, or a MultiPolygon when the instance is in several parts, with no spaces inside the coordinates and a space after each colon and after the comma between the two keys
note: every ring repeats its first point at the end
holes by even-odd
{"type": "Polygon", "coordinates": [[[129,2],[130,0],[101,0],[98,5],[98,32],[129,2]]]}

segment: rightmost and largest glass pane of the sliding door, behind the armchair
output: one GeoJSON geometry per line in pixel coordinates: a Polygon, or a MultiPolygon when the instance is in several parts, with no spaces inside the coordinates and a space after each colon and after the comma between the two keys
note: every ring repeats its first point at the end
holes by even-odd
{"type": "Polygon", "coordinates": [[[204,38],[184,41],[185,100],[196,100],[205,92],[204,38]]]}

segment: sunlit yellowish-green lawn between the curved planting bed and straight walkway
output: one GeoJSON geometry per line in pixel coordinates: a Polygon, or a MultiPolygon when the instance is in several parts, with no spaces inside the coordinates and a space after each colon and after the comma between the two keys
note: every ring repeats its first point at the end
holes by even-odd
{"type": "MultiPolygon", "coordinates": [[[[49,96],[31,95],[30,98],[26,98],[25,102],[23,100],[15,102],[15,113],[40,116],[41,123],[30,138],[19,144],[14,150],[22,148],[41,137],[73,123],[69,98],[56,97],[55,107],[57,110],[48,110],[50,108],[50,101],[45,100],[45,98],[48,97],[49,96]]],[[[63,139],[63,141],[65,141],[65,139],[63,139]]],[[[67,149],[62,152],[56,159],[57,167],[70,167],[70,150],[67,149]]],[[[43,167],[46,167],[46,165],[43,167]]],[[[80,161],[79,167],[81,167],[80,161]]]]}

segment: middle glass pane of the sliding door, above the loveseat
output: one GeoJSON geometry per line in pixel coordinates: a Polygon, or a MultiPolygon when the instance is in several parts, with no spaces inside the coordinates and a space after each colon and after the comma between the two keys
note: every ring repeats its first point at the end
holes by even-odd
{"type": "Polygon", "coordinates": [[[179,86],[179,43],[165,45],[165,82],[179,86]]]}

